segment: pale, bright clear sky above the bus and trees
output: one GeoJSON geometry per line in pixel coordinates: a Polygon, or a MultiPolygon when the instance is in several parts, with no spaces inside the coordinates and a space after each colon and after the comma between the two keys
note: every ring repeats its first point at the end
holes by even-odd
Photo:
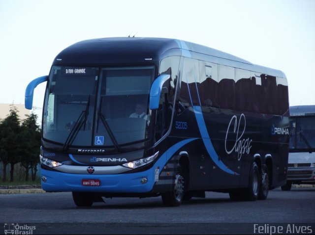
{"type": "MultiPolygon", "coordinates": [[[[315,104],[315,0],[0,0],[0,103],[82,40],[175,38],[284,72],[290,105],[315,104]]],[[[45,83],[33,105],[41,116],[45,83]]]]}

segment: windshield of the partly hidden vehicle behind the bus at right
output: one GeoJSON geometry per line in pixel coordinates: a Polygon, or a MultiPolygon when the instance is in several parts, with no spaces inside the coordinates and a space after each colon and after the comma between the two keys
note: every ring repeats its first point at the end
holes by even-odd
{"type": "Polygon", "coordinates": [[[290,118],[290,149],[315,150],[315,117],[290,118]]]}

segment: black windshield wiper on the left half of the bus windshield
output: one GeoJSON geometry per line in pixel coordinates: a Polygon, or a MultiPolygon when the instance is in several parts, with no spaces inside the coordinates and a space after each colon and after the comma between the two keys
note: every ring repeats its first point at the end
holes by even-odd
{"type": "Polygon", "coordinates": [[[79,133],[79,131],[83,125],[84,125],[83,130],[86,129],[88,116],[89,116],[90,98],[91,98],[91,95],[89,95],[89,100],[88,100],[88,103],[87,103],[85,110],[83,110],[81,112],[81,114],[78,117],[77,121],[75,122],[72,130],[70,130],[70,133],[63,144],[63,151],[67,151],[69,149],[69,146],[72,144],[72,142],[74,141],[75,137],[77,136],[77,134],[79,133]]]}

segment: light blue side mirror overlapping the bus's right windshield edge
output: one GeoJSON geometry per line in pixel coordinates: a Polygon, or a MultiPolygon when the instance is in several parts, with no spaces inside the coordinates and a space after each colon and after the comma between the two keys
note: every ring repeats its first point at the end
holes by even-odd
{"type": "MultiPolygon", "coordinates": [[[[150,90],[150,109],[158,109],[158,103],[159,103],[159,97],[161,95],[161,92],[167,92],[164,88],[162,88],[165,81],[167,81],[169,78],[171,78],[168,74],[162,74],[158,76],[157,79],[153,81],[153,84],[151,86],[150,90]]],[[[166,87],[165,87],[166,88],[166,87]]],[[[167,89],[167,88],[166,88],[167,89]]]]}

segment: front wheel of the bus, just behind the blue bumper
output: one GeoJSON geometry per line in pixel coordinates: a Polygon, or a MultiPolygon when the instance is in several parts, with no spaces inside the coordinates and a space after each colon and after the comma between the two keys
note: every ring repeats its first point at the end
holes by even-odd
{"type": "Polygon", "coordinates": [[[182,167],[178,167],[178,171],[175,176],[175,184],[173,190],[163,193],[162,201],[166,207],[178,207],[182,204],[184,199],[185,178],[182,167]]]}

